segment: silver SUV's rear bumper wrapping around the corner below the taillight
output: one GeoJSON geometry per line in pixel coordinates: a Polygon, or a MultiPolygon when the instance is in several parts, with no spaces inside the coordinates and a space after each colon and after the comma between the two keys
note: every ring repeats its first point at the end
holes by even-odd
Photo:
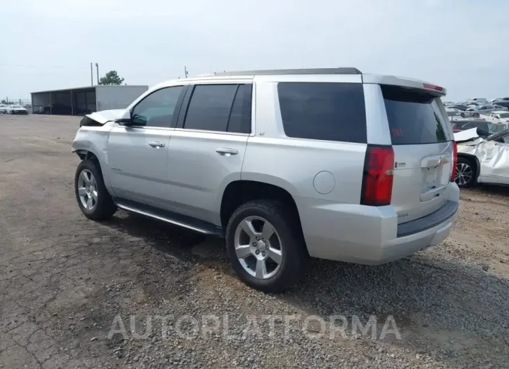
{"type": "Polygon", "coordinates": [[[296,198],[307,251],[315,258],[377,265],[439,244],[457,218],[459,189],[449,187],[444,207],[400,226],[390,206],[296,198]]]}

